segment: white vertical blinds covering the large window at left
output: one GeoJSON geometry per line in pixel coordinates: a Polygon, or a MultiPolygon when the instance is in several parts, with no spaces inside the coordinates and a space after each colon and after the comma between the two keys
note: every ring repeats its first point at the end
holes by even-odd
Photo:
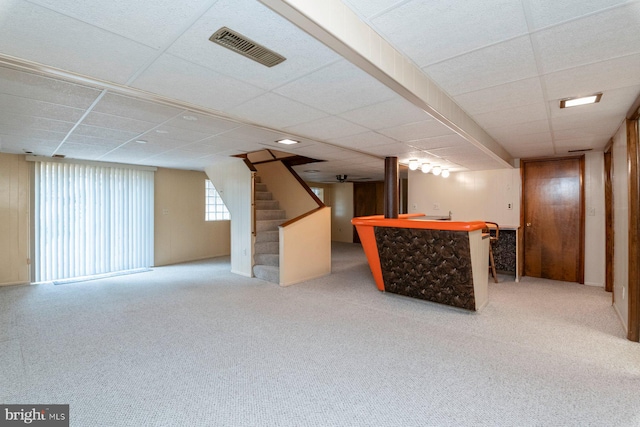
{"type": "Polygon", "coordinates": [[[35,279],[153,264],[151,170],[36,162],[35,279]]]}

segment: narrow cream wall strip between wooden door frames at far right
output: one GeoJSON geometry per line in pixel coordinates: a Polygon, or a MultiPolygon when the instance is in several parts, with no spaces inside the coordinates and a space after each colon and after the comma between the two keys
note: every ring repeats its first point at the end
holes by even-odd
{"type": "Polygon", "coordinates": [[[613,137],[613,295],[614,307],[627,330],[629,325],[629,182],[627,169],[627,128],[623,123],[613,137]]]}

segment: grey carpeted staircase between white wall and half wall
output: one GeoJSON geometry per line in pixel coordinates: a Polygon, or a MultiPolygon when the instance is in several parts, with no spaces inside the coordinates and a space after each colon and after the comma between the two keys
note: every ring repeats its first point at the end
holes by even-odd
{"type": "Polygon", "coordinates": [[[280,231],[285,212],[267,191],[259,176],[255,177],[256,239],[253,248],[253,275],[258,279],[280,283],[280,231]]]}

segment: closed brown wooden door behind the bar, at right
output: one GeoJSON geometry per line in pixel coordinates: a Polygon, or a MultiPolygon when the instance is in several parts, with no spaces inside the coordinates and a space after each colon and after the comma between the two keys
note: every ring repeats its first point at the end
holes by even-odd
{"type": "Polygon", "coordinates": [[[525,276],[584,283],[584,157],[523,162],[525,276]]]}

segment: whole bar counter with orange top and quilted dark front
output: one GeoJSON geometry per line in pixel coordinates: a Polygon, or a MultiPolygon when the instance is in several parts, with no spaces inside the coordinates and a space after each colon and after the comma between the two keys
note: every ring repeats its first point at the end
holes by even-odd
{"type": "Polygon", "coordinates": [[[380,291],[473,311],[486,305],[489,239],[482,233],[484,222],[404,214],[397,219],[357,217],[351,223],[380,291]]]}

